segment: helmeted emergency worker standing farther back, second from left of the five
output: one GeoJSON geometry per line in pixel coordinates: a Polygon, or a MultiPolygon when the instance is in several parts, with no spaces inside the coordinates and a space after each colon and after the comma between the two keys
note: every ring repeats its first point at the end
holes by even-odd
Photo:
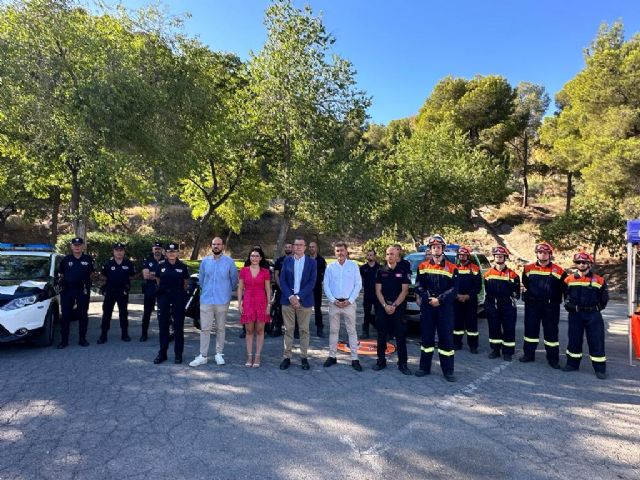
{"type": "Polygon", "coordinates": [[[453,325],[453,349],[462,348],[462,339],[467,334],[471,353],[478,353],[480,332],[478,331],[478,294],[482,290],[480,267],[471,262],[471,250],[458,249],[458,295],[455,301],[455,323],[453,325]]]}

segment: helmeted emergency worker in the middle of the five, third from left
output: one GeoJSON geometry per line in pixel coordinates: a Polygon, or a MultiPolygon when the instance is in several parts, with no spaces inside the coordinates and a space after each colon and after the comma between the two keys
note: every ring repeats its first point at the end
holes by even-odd
{"type": "Polygon", "coordinates": [[[489,324],[489,358],[510,362],[516,348],[516,302],[520,298],[520,277],[507,267],[509,250],[497,246],[491,249],[494,266],[484,274],[484,310],[489,324]]]}

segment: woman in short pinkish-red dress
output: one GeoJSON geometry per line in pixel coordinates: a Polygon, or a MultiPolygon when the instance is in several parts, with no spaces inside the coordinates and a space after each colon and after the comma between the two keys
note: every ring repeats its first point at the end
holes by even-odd
{"type": "Polygon", "coordinates": [[[240,323],[247,329],[247,362],[245,366],[260,366],[260,354],[264,344],[264,326],[271,321],[271,274],[264,252],[254,247],[249,253],[249,266],[240,269],[238,280],[238,308],[240,323]],[[256,354],[253,356],[253,336],[256,336],[256,354]]]}

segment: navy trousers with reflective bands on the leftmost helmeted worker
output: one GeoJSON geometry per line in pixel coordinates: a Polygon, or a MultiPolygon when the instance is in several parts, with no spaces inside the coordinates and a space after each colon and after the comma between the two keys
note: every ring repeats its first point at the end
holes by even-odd
{"type": "Polygon", "coordinates": [[[420,308],[420,370],[431,373],[431,361],[435,350],[435,334],[438,331],[440,368],[445,375],[453,374],[453,305],[432,307],[423,300],[420,308]]]}

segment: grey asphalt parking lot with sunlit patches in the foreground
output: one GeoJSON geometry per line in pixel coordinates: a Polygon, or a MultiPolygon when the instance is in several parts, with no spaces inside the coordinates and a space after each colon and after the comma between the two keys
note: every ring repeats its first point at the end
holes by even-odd
{"type": "MultiPolygon", "coordinates": [[[[481,354],[456,353],[454,384],[437,364],[425,378],[374,372],[373,357],[358,373],[347,354],[323,368],[328,339],[315,336],[310,371],[295,352],[278,369],[282,338],[246,368],[235,310],[227,365],[187,365],[198,351],[189,325],[185,364],[170,352],[156,366],[155,317],[137,341],[141,309],[131,306],[131,343],[114,315],[96,344],[92,303],[88,348],[76,325],[66,350],[0,346],[0,479],[640,478],[640,367],[628,364],[621,303],[605,311],[608,380],[588,361],[552,370],[541,350],[534,364],[490,360],[482,320],[481,354]]],[[[564,316],[561,333],[564,351],[564,316]]],[[[418,354],[413,338],[410,368],[418,354]]]]}

